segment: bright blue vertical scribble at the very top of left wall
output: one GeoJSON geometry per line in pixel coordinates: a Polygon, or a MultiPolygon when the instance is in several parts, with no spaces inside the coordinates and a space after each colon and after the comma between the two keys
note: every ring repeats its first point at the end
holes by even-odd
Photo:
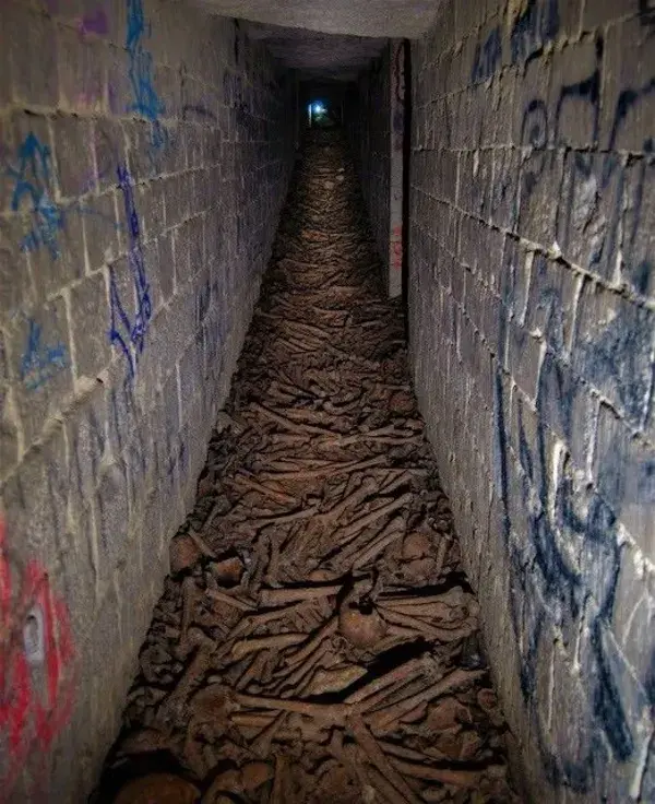
{"type": "Polygon", "coordinates": [[[151,121],[153,127],[151,144],[155,151],[159,151],[166,144],[166,131],[159,120],[166,108],[155,90],[153,56],[144,47],[144,39],[151,35],[151,25],[145,20],[143,0],[127,0],[127,11],[126,48],[130,57],[128,72],[134,98],[128,110],[135,111],[151,121]]]}

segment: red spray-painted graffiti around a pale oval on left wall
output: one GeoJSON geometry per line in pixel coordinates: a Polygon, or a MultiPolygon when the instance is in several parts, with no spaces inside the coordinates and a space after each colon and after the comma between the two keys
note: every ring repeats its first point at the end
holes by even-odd
{"type": "Polygon", "coordinates": [[[66,604],[52,593],[46,571],[35,560],[22,572],[14,567],[14,580],[20,589],[12,595],[0,519],[0,745],[7,745],[9,759],[0,766],[0,801],[9,796],[32,755],[45,767],[52,741],[70,718],[74,688],[66,604]]]}

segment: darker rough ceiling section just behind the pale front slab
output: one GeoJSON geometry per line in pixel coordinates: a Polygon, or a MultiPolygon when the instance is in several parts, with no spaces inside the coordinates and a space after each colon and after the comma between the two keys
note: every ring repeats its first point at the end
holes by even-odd
{"type": "Polygon", "coordinates": [[[263,40],[285,67],[299,70],[303,80],[354,81],[380,55],[385,38],[340,36],[277,25],[246,23],[251,39],[263,40]]]}

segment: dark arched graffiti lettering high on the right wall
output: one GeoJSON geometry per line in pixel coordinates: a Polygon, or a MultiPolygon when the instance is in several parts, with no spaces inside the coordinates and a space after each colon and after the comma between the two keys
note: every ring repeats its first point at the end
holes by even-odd
{"type": "MultiPolygon", "coordinates": [[[[651,158],[627,163],[618,151],[628,123],[636,119],[640,105],[651,97],[655,97],[655,76],[622,90],[608,129],[607,149],[600,154],[574,150],[567,154],[556,218],[556,239],[565,257],[609,281],[615,279],[619,262],[622,279],[640,294],[646,293],[652,283],[653,261],[642,208],[654,168],[651,158]]],[[[588,119],[591,139],[598,144],[600,64],[582,81],[562,85],[555,108],[549,109],[539,97],[527,104],[522,144],[529,145],[533,154],[529,164],[519,167],[516,192],[522,204],[555,169],[557,151],[549,144],[568,144],[563,133],[567,116],[588,119]]],[[[641,149],[646,155],[653,153],[653,142],[651,133],[644,135],[641,149]]]]}

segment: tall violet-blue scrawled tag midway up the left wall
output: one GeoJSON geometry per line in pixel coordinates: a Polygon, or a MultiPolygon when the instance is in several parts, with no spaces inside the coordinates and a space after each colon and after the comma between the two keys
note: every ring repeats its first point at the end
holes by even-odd
{"type": "Polygon", "coordinates": [[[141,247],[139,215],[134,204],[131,177],[126,166],[119,165],[118,167],[118,182],[123,194],[126,218],[128,222],[130,240],[129,264],[136,297],[136,309],[133,320],[131,320],[121,302],[116,272],[114,265],[111,265],[109,268],[109,304],[111,310],[109,340],[124,355],[128,362],[129,377],[132,379],[136,373],[139,356],[145,347],[145,334],[153,310],[143,249],[141,247]]]}

